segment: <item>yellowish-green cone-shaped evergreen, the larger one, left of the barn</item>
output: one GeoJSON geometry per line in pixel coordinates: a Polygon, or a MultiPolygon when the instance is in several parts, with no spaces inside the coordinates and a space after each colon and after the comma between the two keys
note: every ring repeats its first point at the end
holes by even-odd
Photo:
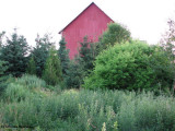
{"type": "Polygon", "coordinates": [[[46,60],[43,79],[49,85],[57,85],[62,82],[62,72],[60,60],[57,55],[57,50],[51,47],[49,50],[48,58],[46,60]]]}

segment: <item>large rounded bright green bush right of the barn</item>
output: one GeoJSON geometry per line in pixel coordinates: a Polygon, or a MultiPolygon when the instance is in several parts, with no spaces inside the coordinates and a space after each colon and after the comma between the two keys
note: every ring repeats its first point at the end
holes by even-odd
{"type": "Polygon", "coordinates": [[[163,50],[135,40],[103,51],[84,80],[85,88],[159,90],[171,87],[174,70],[163,50]]]}

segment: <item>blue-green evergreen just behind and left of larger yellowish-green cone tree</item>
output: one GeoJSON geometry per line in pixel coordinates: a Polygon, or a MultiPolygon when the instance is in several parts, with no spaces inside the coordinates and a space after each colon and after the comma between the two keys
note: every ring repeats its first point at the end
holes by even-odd
{"type": "Polygon", "coordinates": [[[34,57],[34,61],[36,63],[37,76],[42,76],[45,68],[45,62],[48,57],[48,51],[54,45],[54,43],[51,43],[50,40],[51,37],[49,36],[49,34],[45,34],[42,38],[39,37],[39,35],[37,35],[37,38],[35,39],[36,47],[32,50],[31,55],[34,57]]]}

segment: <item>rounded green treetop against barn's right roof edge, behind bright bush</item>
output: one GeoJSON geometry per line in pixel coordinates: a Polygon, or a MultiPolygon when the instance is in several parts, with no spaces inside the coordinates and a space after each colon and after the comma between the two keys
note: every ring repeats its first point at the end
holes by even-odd
{"type": "Polygon", "coordinates": [[[100,51],[106,49],[108,46],[120,44],[130,40],[130,32],[122,25],[110,23],[106,32],[100,38],[100,51]]]}

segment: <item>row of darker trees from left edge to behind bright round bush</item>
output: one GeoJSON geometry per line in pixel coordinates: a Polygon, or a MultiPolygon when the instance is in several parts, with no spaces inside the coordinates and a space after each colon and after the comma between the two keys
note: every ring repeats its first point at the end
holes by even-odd
{"type": "Polygon", "coordinates": [[[69,50],[66,48],[67,43],[63,37],[57,50],[56,43],[51,43],[48,34],[43,37],[37,35],[35,47],[30,47],[26,38],[19,35],[16,31],[3,43],[2,38],[5,33],[1,33],[0,36],[0,60],[5,61],[4,64],[8,67],[5,74],[19,78],[28,73],[43,78],[50,85],[61,84],[67,88],[79,88],[83,83],[83,78],[93,69],[96,56],[115,41],[128,40],[130,32],[119,24],[110,24],[108,31],[103,34],[103,38],[100,38],[100,43],[90,43],[85,36],[73,60],[69,59],[69,50]],[[117,32],[120,32],[120,39],[115,37],[119,34],[117,32]]]}

